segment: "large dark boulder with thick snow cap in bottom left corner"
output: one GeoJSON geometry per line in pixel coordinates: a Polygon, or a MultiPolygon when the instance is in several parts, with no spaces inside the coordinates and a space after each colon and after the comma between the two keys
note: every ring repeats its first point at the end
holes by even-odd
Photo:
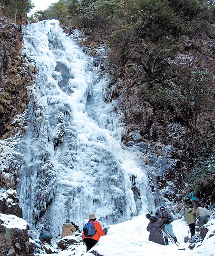
{"type": "Polygon", "coordinates": [[[0,255],[29,256],[27,229],[28,223],[25,220],[15,215],[0,213],[0,255]]]}

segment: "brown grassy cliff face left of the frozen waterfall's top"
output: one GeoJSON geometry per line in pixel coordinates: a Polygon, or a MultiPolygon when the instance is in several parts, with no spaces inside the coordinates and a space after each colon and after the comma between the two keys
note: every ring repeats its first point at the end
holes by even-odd
{"type": "Polygon", "coordinates": [[[5,17],[0,18],[0,137],[13,133],[12,118],[28,105],[28,86],[36,72],[30,60],[21,53],[21,27],[5,17]]]}

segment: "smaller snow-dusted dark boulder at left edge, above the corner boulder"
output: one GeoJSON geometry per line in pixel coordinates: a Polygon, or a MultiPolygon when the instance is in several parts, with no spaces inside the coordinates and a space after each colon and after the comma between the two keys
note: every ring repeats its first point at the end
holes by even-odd
{"type": "Polygon", "coordinates": [[[13,214],[22,218],[22,209],[16,190],[0,190],[0,213],[13,214]]]}

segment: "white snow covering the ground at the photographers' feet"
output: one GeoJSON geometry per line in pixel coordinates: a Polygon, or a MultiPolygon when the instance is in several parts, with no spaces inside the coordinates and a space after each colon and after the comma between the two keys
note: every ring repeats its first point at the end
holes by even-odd
{"type": "MultiPolygon", "coordinates": [[[[184,237],[188,235],[189,230],[184,217],[172,222],[174,234],[180,243],[179,246],[171,242],[165,246],[148,241],[149,232],[146,229],[148,223],[149,221],[145,215],[139,215],[130,221],[111,225],[108,234],[101,237],[98,244],[91,250],[95,249],[98,254],[103,256],[215,256],[215,235],[208,238],[215,231],[215,220],[210,221],[211,227],[201,246],[193,250],[188,248],[189,243],[184,243],[184,237]]],[[[56,247],[56,245],[53,246],[56,247]]],[[[85,245],[77,245],[75,250],[60,251],[58,255],[93,256],[90,252],[86,253],[85,245]]],[[[37,256],[40,256],[40,254],[37,254],[37,256]]],[[[50,256],[56,256],[56,254],[50,254],[50,256]]]]}

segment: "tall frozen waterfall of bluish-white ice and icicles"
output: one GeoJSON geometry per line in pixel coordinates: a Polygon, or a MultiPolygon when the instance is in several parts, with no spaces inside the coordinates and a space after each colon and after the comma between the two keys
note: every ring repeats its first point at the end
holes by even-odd
{"type": "Polygon", "coordinates": [[[66,218],[82,229],[89,213],[105,225],[153,208],[145,160],[123,148],[93,60],[56,20],[30,24],[24,51],[38,75],[17,146],[23,218],[57,237],[66,218]]]}

